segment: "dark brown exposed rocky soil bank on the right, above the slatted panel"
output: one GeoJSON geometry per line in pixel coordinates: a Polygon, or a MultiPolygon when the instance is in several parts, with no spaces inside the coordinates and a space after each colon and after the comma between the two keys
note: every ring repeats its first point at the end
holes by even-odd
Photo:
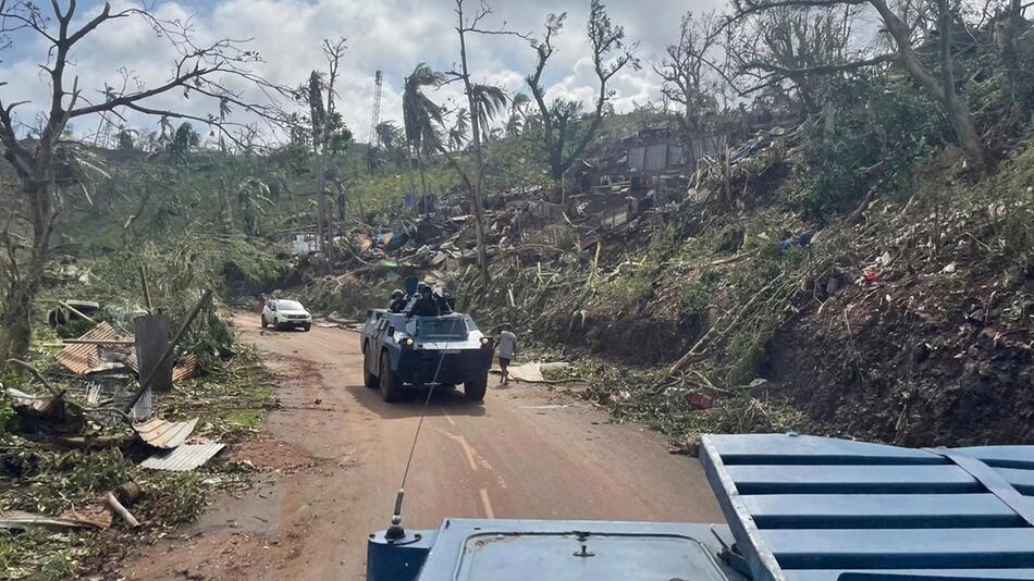
{"type": "Polygon", "coordinates": [[[1022,321],[1034,309],[1000,272],[967,268],[977,271],[953,290],[911,276],[841,290],[770,342],[772,379],[852,436],[1034,442],[1034,337],[1022,321]]]}

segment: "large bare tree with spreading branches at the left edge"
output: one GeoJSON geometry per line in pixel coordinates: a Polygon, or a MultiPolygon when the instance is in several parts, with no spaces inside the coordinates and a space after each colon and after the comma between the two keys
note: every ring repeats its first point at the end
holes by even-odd
{"type": "MultiPolygon", "coordinates": [[[[58,194],[56,170],[59,158],[69,154],[64,143],[69,138],[65,131],[70,121],[90,115],[124,119],[130,111],[197,121],[236,139],[232,129],[243,125],[226,122],[222,115],[202,116],[155,104],[156,98],[173,91],[182,91],[184,97],[209,99],[220,111],[236,107],[259,118],[282,119],[274,104],[250,102],[231,88],[231,84],[250,84],[263,86],[268,89],[266,95],[279,91],[253,71],[254,64],[261,60],[259,54],[230,38],[199,42],[193,37],[188,22],[162,20],[147,8],[113,11],[106,3],[98,13],[85,18],[76,13],[75,0],[70,0],[66,8],[54,0],[50,9],[45,10],[29,0],[0,0],[0,37],[27,36],[42,41],[46,50],[39,66],[50,84],[46,102],[0,101],[0,153],[13,168],[21,189],[20,203],[11,212],[16,219],[5,222],[7,228],[0,233],[5,242],[0,361],[22,357],[29,348],[34,302],[51,256],[58,194]],[[93,102],[89,97],[93,92],[79,87],[78,77],[70,71],[74,69],[72,51],[95,32],[102,34],[109,29],[107,25],[128,18],[143,20],[158,37],[174,46],[179,57],[164,82],[148,87],[143,81],[134,79],[118,91],[106,87],[101,91],[103,100],[93,102]],[[19,132],[24,125],[15,115],[15,109],[33,106],[42,110],[41,121],[33,139],[22,139],[19,132]],[[22,232],[30,232],[30,238],[23,238],[22,232]]],[[[2,85],[5,83],[0,82],[2,85]]]]}

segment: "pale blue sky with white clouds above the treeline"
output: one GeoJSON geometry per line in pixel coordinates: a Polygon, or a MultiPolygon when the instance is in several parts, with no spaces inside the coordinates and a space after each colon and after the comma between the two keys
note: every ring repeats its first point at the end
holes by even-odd
{"type": "MultiPolygon", "coordinates": [[[[467,0],[477,5],[478,0],[467,0]]],[[[611,0],[607,9],[615,23],[626,27],[631,40],[640,40],[637,54],[641,71],[628,71],[616,77],[615,104],[628,110],[633,103],[658,99],[658,81],[650,64],[678,34],[679,16],[687,10],[713,9],[721,0],[611,0]]],[[[64,4],[65,2],[61,2],[64,4]]],[[[41,5],[49,7],[42,2],[41,5]]],[[[102,2],[79,2],[78,13],[85,17],[100,10],[102,2]]],[[[113,8],[134,5],[122,0],[113,8]]],[[[494,0],[488,26],[505,23],[510,29],[539,33],[550,12],[568,13],[567,28],[558,42],[559,51],[547,71],[545,86],[551,97],[568,97],[590,101],[594,75],[586,40],[589,0],[494,0]]],[[[458,40],[453,29],[453,0],[181,0],[157,1],[162,17],[193,17],[198,39],[231,37],[250,39],[249,47],[259,51],[264,63],[256,70],[266,78],[296,86],[313,69],[325,69],[320,51],[323,38],[347,38],[348,50],[342,63],[338,85],[340,110],[356,138],[369,136],[373,101],[373,75],[384,71],[381,120],[402,118],[401,86],[405,75],[418,62],[435,70],[448,70],[458,58],[458,40]]],[[[39,64],[46,62],[48,44],[39,36],[17,34],[12,46],[0,52],[0,99],[4,102],[32,100],[19,109],[28,123],[37,103],[47,95],[47,83],[39,64]]],[[[141,21],[125,18],[108,23],[84,39],[73,53],[79,87],[96,98],[104,82],[121,85],[118,70],[125,66],[147,86],[156,86],[171,73],[175,52],[168,41],[157,38],[141,21]]],[[[530,71],[534,54],[524,40],[506,37],[473,39],[470,65],[475,77],[503,86],[508,91],[525,90],[524,77],[530,71]]],[[[455,100],[455,88],[432,95],[438,101],[455,100]]],[[[455,101],[454,101],[455,102],[455,101]]],[[[214,112],[210,102],[183,100],[182,94],[165,96],[155,104],[172,106],[198,114],[214,112]]],[[[76,132],[96,126],[98,120],[81,119],[76,132]]],[[[131,118],[137,127],[153,127],[156,122],[131,118]]]]}

